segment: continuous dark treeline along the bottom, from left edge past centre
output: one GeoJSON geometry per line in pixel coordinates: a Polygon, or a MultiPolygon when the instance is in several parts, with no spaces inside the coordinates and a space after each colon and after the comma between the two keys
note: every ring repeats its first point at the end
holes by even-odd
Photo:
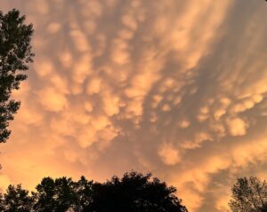
{"type": "Polygon", "coordinates": [[[20,185],[10,185],[1,196],[0,209],[4,212],[186,212],[175,192],[174,187],[168,187],[158,178],[137,172],[125,173],[122,178],[112,177],[102,184],[85,177],[78,181],[45,177],[32,195],[20,185]]]}

